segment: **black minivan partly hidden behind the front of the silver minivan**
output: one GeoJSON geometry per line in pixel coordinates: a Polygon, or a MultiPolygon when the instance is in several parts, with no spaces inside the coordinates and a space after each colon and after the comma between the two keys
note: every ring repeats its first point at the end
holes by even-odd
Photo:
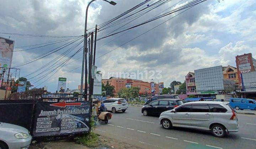
{"type": "Polygon", "coordinates": [[[174,109],[175,107],[183,104],[181,99],[158,99],[154,100],[148,105],[142,107],[142,113],[144,116],[160,115],[162,112],[174,109]]]}

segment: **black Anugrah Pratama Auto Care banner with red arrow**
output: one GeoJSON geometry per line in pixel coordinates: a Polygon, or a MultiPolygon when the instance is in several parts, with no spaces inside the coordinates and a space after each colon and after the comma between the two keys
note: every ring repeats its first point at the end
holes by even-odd
{"type": "Polygon", "coordinates": [[[34,111],[33,137],[90,131],[91,101],[38,101],[34,111]]]}

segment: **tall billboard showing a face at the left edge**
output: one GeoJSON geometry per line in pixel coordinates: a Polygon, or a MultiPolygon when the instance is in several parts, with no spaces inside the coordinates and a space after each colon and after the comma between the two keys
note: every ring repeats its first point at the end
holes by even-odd
{"type": "Polygon", "coordinates": [[[13,50],[14,40],[0,37],[0,67],[11,68],[13,50]]]}

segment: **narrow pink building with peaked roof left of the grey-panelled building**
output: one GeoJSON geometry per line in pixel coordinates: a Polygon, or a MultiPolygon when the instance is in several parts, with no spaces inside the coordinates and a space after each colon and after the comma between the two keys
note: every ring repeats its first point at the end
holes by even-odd
{"type": "Polygon", "coordinates": [[[196,83],[195,83],[195,76],[193,72],[188,72],[185,76],[186,79],[186,88],[187,88],[187,95],[196,95],[196,83]]]}

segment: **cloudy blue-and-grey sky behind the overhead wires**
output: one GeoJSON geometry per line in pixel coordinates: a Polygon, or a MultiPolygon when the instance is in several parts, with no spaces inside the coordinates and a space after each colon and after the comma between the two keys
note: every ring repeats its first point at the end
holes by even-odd
{"type": "MultiPolygon", "coordinates": [[[[112,6],[107,2],[97,0],[89,8],[88,28],[95,27],[95,24],[102,24],[143,1],[115,0],[117,5],[112,6]]],[[[180,0],[170,0],[165,5],[127,24],[127,26],[148,20],[178,1],[180,0]]],[[[178,4],[181,5],[186,1],[183,0],[178,4]]],[[[0,6],[0,32],[82,35],[84,33],[85,9],[88,2],[89,0],[3,0],[0,6]]],[[[170,82],[174,80],[182,82],[189,71],[193,72],[199,68],[217,65],[235,66],[236,55],[252,53],[253,57],[256,57],[255,8],[255,0],[221,0],[220,3],[217,0],[208,0],[145,34],[143,33],[170,19],[175,14],[124,32],[125,34],[120,33],[98,41],[96,57],[143,34],[96,59],[96,66],[104,73],[103,78],[111,77],[113,74],[118,76],[119,73],[126,73],[144,81],[150,81],[153,78],[155,82],[164,82],[165,87],[168,87],[170,82]],[[137,72],[141,72],[143,75],[137,75],[137,72]]],[[[122,24],[119,24],[103,31],[100,30],[97,37],[103,37],[121,26],[122,24]]],[[[5,34],[0,34],[0,36],[6,37],[5,34]]],[[[9,36],[7,35],[7,38],[9,36]]],[[[60,40],[15,36],[10,36],[10,39],[15,40],[14,50],[27,48],[17,48],[20,46],[60,40]]],[[[12,66],[33,59],[61,44],[65,44],[65,42],[33,50],[14,52],[12,66]]],[[[66,58],[75,53],[76,50],[71,51],[66,58]]],[[[64,51],[60,50],[43,59],[18,67],[21,69],[20,77],[37,70],[64,51]]],[[[54,91],[57,89],[58,77],[66,77],[69,82],[67,87],[77,89],[81,78],[80,57],[81,53],[75,55],[52,77],[50,77],[52,73],[44,78],[40,78],[40,73],[39,75],[33,73],[27,78],[38,75],[30,80],[31,83],[38,88],[47,85],[48,90],[54,91]],[[77,67],[79,68],[73,70],[77,67]]],[[[47,71],[50,72],[51,70],[48,69],[47,71]]]]}

